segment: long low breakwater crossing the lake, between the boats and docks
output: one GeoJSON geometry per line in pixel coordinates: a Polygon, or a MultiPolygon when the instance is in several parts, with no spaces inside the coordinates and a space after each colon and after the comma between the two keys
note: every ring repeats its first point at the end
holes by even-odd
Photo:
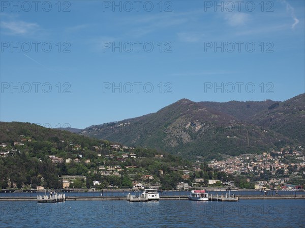
{"type": "MultiPolygon", "coordinates": [[[[239,195],[236,195],[239,196],[239,195]]],[[[305,200],[304,195],[240,195],[240,200],[305,200]]],[[[66,201],[117,201],[125,196],[68,196],[66,201]]],[[[160,196],[160,200],[188,200],[188,196],[160,196]]],[[[0,197],[0,201],[37,201],[37,197],[0,197]]]]}

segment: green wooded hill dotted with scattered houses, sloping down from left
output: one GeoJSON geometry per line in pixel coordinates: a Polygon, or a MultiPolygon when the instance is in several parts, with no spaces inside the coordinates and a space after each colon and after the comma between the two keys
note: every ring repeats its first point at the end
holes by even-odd
{"type": "Polygon", "coordinates": [[[73,182],[70,187],[76,188],[107,188],[110,184],[132,187],[132,181],[142,181],[143,175],[153,175],[152,183],[174,188],[174,181],[181,177],[171,173],[169,167],[190,166],[189,161],[166,152],[127,148],[30,123],[1,122],[0,129],[0,189],[37,186],[61,189],[67,175],[86,178],[69,180],[73,182]],[[160,154],[161,159],[155,157],[160,154]],[[159,170],[172,179],[160,180],[159,170]],[[94,186],[94,181],[100,185],[94,186]]]}

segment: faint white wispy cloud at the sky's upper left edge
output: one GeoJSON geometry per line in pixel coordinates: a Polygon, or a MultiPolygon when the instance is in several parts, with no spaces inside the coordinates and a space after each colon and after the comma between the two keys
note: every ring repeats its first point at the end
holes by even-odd
{"type": "Polygon", "coordinates": [[[1,21],[0,26],[4,29],[4,33],[8,35],[28,35],[33,34],[39,29],[37,23],[25,21],[1,21]]]}

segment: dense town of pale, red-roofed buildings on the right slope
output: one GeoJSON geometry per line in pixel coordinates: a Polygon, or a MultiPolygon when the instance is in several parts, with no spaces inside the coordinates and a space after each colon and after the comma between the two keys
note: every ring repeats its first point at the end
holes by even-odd
{"type": "MultiPolygon", "coordinates": [[[[301,179],[305,176],[305,154],[302,147],[285,147],[279,151],[271,150],[262,154],[244,154],[228,157],[225,160],[212,160],[208,166],[231,175],[255,175],[261,178],[255,188],[264,186],[292,189],[287,185],[292,179],[301,179]],[[269,177],[268,180],[265,176],[269,177]]],[[[298,186],[298,188],[301,188],[298,186]]]]}

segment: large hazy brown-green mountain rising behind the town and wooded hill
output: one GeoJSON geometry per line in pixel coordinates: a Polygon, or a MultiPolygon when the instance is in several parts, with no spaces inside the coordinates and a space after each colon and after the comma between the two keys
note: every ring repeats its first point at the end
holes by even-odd
{"type": "Polygon", "coordinates": [[[188,156],[256,153],[304,145],[304,103],[304,94],[285,102],[181,99],[156,113],[90,126],[81,134],[188,156]]]}

